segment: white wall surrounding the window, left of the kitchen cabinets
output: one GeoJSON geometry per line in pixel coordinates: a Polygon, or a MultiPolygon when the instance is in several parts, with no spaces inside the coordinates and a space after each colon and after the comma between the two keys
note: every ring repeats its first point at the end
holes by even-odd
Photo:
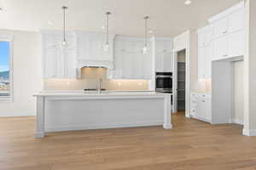
{"type": "Polygon", "coordinates": [[[36,114],[33,94],[42,89],[40,34],[29,31],[1,31],[14,36],[14,101],[0,101],[0,116],[36,114]]]}

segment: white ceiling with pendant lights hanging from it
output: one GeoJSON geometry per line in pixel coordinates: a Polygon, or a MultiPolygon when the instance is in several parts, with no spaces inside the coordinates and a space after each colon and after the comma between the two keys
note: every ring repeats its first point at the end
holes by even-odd
{"type": "Polygon", "coordinates": [[[240,0],[0,0],[0,29],[39,31],[62,28],[61,5],[68,6],[67,29],[102,31],[106,11],[111,11],[110,31],[143,36],[143,16],[156,36],[173,37],[207,24],[213,14],[240,0]],[[51,24],[49,24],[49,22],[51,24]]]}

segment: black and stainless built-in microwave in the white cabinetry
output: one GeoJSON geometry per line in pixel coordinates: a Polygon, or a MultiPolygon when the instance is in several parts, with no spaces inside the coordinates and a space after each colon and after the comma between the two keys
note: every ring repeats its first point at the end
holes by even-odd
{"type": "Polygon", "coordinates": [[[155,73],[155,91],[172,94],[172,72],[155,73]]]}

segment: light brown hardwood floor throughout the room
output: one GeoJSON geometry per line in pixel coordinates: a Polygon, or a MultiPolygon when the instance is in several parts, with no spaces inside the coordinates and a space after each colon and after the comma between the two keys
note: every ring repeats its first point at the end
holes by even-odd
{"type": "Polygon", "coordinates": [[[85,130],[34,139],[35,117],[0,118],[0,169],[256,169],[256,138],[241,136],[241,126],[213,126],[183,113],[172,122],[172,130],[85,130]]]}

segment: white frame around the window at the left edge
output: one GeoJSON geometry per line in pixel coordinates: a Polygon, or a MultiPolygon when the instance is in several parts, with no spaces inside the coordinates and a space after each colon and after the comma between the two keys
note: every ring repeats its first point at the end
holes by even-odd
{"type": "Polygon", "coordinates": [[[0,42],[9,42],[9,96],[0,96],[0,102],[14,101],[13,35],[0,32],[0,42]]]}

